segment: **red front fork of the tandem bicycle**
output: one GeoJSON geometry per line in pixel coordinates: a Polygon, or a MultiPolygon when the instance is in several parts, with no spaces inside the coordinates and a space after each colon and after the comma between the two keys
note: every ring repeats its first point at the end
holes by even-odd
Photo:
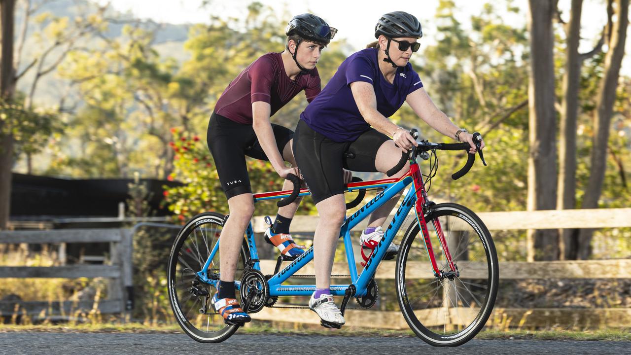
{"type": "MultiPolygon", "coordinates": [[[[421,228],[421,232],[423,235],[423,243],[425,243],[425,248],[427,248],[427,254],[430,258],[430,262],[432,262],[432,268],[434,271],[434,275],[436,277],[442,276],[442,271],[439,269],[438,264],[436,263],[436,258],[433,253],[432,241],[430,240],[430,234],[427,230],[427,222],[425,222],[425,214],[423,214],[423,206],[427,201],[427,193],[425,192],[425,186],[423,185],[423,180],[421,176],[420,168],[418,164],[410,165],[411,176],[414,181],[414,188],[416,189],[416,203],[415,203],[415,212],[416,219],[418,220],[418,224],[421,228]]],[[[449,265],[449,269],[451,272],[456,272],[456,266],[451,258],[451,253],[449,253],[449,247],[447,246],[447,241],[445,240],[445,235],[442,232],[442,227],[440,226],[440,221],[438,219],[432,220],[433,227],[438,236],[440,246],[442,246],[442,250],[444,251],[445,259],[449,265]]]]}

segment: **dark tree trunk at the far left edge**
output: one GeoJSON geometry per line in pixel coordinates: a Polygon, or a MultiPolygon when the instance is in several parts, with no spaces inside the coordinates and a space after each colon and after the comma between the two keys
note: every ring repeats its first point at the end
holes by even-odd
{"type": "MultiPolygon", "coordinates": [[[[13,99],[15,70],[13,68],[13,28],[15,0],[0,1],[2,57],[0,58],[0,95],[4,102],[13,99]]],[[[11,206],[11,169],[13,169],[13,135],[10,124],[0,121],[0,229],[6,229],[11,206]]]]}

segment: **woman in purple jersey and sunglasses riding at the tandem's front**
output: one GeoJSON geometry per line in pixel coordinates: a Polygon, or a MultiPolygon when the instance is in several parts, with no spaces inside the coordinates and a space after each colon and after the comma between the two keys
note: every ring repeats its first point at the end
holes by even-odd
{"type": "MultiPolygon", "coordinates": [[[[346,58],[300,115],[293,153],[320,215],[314,235],[317,289],[309,308],[324,324],[345,323],[329,290],[339,229],[346,217],[342,167],[385,173],[407,158],[402,151],[407,153],[417,145],[415,138],[387,119],[404,101],[432,128],[469,143],[469,152],[476,152],[473,135],[459,129],[433,104],[409,63],[422,35],[415,16],[402,11],[383,15],[375,27],[377,42],[346,58]]],[[[408,169],[409,164],[405,164],[394,177],[403,176],[408,169]]],[[[383,237],[381,226],[398,196],[370,215],[369,227],[360,239],[362,246],[369,246],[369,241],[378,243],[383,237]]]]}

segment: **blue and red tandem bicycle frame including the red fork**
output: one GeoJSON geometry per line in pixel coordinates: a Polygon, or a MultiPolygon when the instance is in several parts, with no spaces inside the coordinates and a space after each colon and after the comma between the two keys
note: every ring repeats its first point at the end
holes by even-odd
{"type": "MultiPolygon", "coordinates": [[[[425,191],[420,168],[416,163],[415,157],[411,157],[410,169],[401,178],[350,183],[348,184],[348,188],[346,191],[350,192],[377,188],[383,188],[384,190],[380,191],[377,196],[375,196],[374,198],[372,198],[372,200],[363,205],[363,207],[357,210],[357,212],[353,213],[353,215],[347,217],[339,232],[339,238],[343,238],[344,245],[346,247],[346,261],[348,262],[348,271],[350,273],[351,282],[355,285],[357,289],[355,294],[352,295],[355,297],[361,297],[367,294],[367,287],[370,283],[370,280],[372,280],[372,278],[374,277],[375,272],[377,271],[377,267],[379,267],[379,263],[386,255],[387,247],[394,240],[394,236],[396,236],[399,228],[401,228],[405,217],[408,215],[412,207],[415,207],[416,220],[422,231],[423,241],[425,243],[425,248],[427,249],[428,256],[432,263],[433,273],[436,277],[441,277],[444,273],[443,270],[440,270],[438,268],[432,249],[432,241],[430,241],[429,238],[429,232],[427,230],[424,213],[427,207],[427,192],[425,191]],[[379,244],[375,246],[375,249],[374,251],[372,251],[369,260],[367,260],[365,267],[363,267],[362,272],[358,274],[357,265],[355,265],[353,244],[351,242],[350,236],[351,229],[357,226],[359,222],[372,214],[372,212],[381,207],[393,196],[403,191],[410,184],[411,188],[404,196],[401,206],[396,211],[396,214],[394,214],[392,221],[384,232],[384,238],[382,238],[379,244]]],[[[262,200],[278,199],[289,196],[291,195],[291,193],[292,191],[257,193],[254,194],[254,200],[255,202],[257,202],[262,200]]],[[[309,190],[302,189],[300,190],[300,194],[298,196],[307,195],[309,195],[309,190]]],[[[437,236],[439,237],[439,242],[442,246],[442,250],[444,250],[445,252],[445,258],[450,269],[449,271],[456,272],[456,267],[452,262],[452,258],[449,254],[442,228],[440,227],[440,222],[438,220],[433,220],[433,227],[437,233],[437,236]]],[[[250,258],[252,261],[251,267],[256,270],[261,270],[261,265],[259,263],[259,254],[256,248],[256,243],[254,241],[254,230],[252,229],[252,224],[249,224],[249,226],[247,227],[246,235],[247,244],[250,250],[250,258]]],[[[215,254],[218,250],[219,241],[217,241],[213,246],[213,250],[208,257],[208,260],[206,260],[203,269],[197,273],[201,281],[211,284],[215,287],[218,280],[208,279],[207,273],[208,268],[211,265],[211,261],[215,257],[215,254]]],[[[269,296],[310,296],[315,291],[315,285],[283,285],[283,282],[285,282],[285,280],[289,279],[293,274],[300,270],[300,268],[311,262],[313,258],[314,253],[312,246],[307,249],[302,255],[298,256],[298,258],[293,260],[290,265],[286,266],[285,268],[281,269],[277,274],[273,275],[268,280],[269,296]]],[[[240,289],[240,282],[235,281],[235,286],[237,287],[237,289],[240,289]]],[[[349,286],[350,285],[348,284],[331,285],[331,294],[333,294],[334,296],[344,296],[345,291],[346,289],[348,289],[349,286]]]]}

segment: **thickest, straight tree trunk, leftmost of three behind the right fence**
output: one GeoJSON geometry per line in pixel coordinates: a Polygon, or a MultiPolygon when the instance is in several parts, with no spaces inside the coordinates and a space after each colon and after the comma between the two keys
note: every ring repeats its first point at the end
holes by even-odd
{"type": "MultiPolygon", "coordinates": [[[[530,0],[528,210],[553,210],[557,202],[555,75],[552,19],[555,0],[530,0]]],[[[558,231],[528,230],[528,260],[557,260],[558,231]]]]}

